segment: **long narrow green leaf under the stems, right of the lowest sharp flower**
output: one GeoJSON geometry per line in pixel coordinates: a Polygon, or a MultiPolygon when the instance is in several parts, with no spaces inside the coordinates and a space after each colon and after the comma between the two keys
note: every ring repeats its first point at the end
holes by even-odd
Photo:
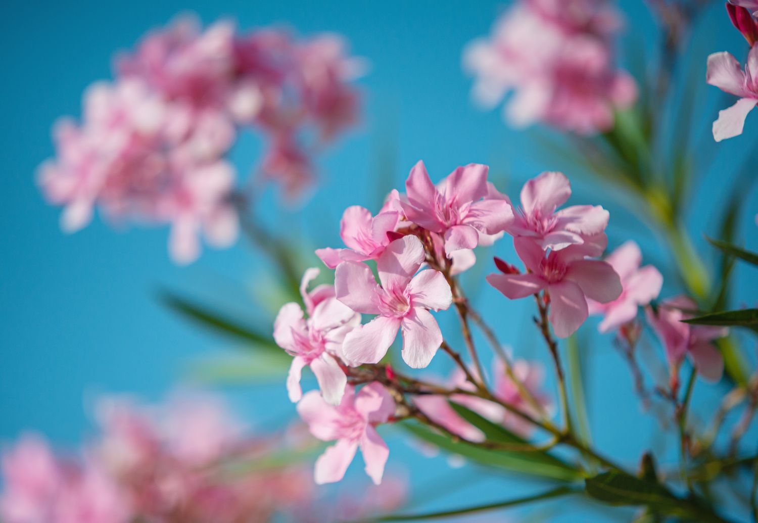
{"type": "Polygon", "coordinates": [[[531,456],[531,453],[506,453],[499,450],[483,449],[453,440],[421,424],[402,423],[399,426],[405,428],[406,431],[409,431],[426,443],[431,443],[449,453],[463,456],[471,460],[471,462],[480,465],[558,481],[575,481],[579,478],[578,472],[567,468],[565,464],[558,465],[552,462],[541,462],[540,460],[535,460],[534,456],[531,456]]]}

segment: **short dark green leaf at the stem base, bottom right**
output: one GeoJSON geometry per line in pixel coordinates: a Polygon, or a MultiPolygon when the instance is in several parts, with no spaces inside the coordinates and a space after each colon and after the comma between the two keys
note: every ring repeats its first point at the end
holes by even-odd
{"type": "Polygon", "coordinates": [[[622,472],[603,472],[594,478],[587,478],[584,480],[584,490],[590,497],[609,505],[672,509],[679,501],[660,484],[622,472]]]}

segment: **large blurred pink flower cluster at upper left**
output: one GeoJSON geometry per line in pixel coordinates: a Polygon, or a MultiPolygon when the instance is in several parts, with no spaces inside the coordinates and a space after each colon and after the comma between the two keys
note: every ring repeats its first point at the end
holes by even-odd
{"type": "Polygon", "coordinates": [[[57,154],[39,183],[64,206],[64,230],[86,226],[96,206],[117,221],[169,224],[172,258],[188,263],[200,236],[214,246],[236,240],[226,156],[238,134],[262,133],[258,171],[295,196],[312,180],[306,135],[324,142],[356,122],[348,82],[359,72],[334,35],[299,40],[177,20],[118,58],[115,80],[86,91],[80,123],[58,123],[57,154]]]}

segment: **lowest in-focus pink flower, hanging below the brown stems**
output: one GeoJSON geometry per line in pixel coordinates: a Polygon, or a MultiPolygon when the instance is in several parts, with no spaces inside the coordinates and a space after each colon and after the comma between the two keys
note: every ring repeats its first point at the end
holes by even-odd
{"type": "Polygon", "coordinates": [[[340,481],[359,446],[366,473],[374,484],[381,483],[390,451],[375,427],[395,413],[395,403],[384,387],[374,382],[357,394],[347,387],[338,406],[330,406],[311,391],[298,403],[297,412],[319,440],[337,441],[316,460],[317,484],[340,481]]]}

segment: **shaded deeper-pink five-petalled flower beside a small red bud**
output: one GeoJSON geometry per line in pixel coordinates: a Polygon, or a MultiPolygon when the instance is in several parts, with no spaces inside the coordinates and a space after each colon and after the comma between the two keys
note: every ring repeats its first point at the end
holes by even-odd
{"type": "Polygon", "coordinates": [[[585,259],[605,249],[605,235],[593,242],[568,246],[547,254],[530,238],[514,245],[528,274],[490,274],[487,281],[509,299],[525,298],[540,290],[550,294],[550,324],[557,337],[571,336],[587,319],[587,298],[608,303],[622,293],[621,280],[605,261],[585,259]]]}

